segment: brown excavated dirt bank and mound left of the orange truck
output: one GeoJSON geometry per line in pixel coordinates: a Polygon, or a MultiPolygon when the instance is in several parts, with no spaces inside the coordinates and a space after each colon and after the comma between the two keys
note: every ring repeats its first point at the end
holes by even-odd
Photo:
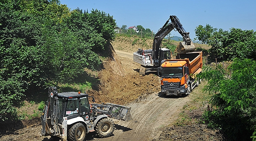
{"type": "Polygon", "coordinates": [[[139,65],[131,58],[117,56],[104,62],[104,69],[99,72],[99,90],[88,93],[96,99],[96,103],[115,103],[124,105],[134,101],[142,94],[152,94],[160,90],[160,79],[154,74],[139,75],[139,65]],[[121,63],[122,61],[122,63],[121,63]]]}

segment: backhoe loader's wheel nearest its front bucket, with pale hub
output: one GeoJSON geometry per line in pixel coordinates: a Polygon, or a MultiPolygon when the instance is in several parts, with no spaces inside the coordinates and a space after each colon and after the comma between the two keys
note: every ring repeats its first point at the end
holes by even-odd
{"type": "Polygon", "coordinates": [[[114,121],[111,118],[101,119],[96,125],[96,133],[100,137],[109,137],[114,132],[114,121]]]}

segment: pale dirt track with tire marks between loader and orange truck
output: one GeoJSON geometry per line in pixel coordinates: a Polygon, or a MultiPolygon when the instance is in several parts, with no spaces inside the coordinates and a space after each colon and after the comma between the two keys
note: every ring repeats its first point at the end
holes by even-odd
{"type": "Polygon", "coordinates": [[[149,141],[157,139],[163,128],[173,122],[190,100],[188,97],[150,94],[146,99],[127,105],[131,107],[132,121],[115,121],[114,135],[99,141],[149,141]]]}

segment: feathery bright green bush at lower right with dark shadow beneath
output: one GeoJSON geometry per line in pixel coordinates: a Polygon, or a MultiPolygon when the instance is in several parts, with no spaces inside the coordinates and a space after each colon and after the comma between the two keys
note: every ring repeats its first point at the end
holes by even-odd
{"type": "Polygon", "coordinates": [[[218,67],[198,76],[208,81],[204,90],[215,93],[205,121],[209,127],[222,128],[230,140],[248,140],[256,131],[255,76],[256,61],[250,59],[235,59],[227,72],[218,67]]]}

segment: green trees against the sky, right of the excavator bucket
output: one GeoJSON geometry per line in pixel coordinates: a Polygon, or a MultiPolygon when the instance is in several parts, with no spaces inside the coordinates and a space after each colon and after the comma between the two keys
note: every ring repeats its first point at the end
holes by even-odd
{"type": "Polygon", "coordinates": [[[197,39],[211,45],[210,56],[221,60],[234,58],[254,59],[256,56],[256,32],[231,28],[230,31],[217,30],[206,24],[195,29],[197,39]]]}

